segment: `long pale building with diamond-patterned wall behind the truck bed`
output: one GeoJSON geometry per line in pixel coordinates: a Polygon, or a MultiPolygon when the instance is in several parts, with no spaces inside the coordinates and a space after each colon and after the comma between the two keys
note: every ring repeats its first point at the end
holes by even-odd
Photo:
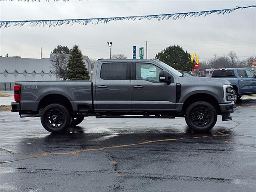
{"type": "MultiPolygon", "coordinates": [[[[50,58],[31,59],[21,57],[0,57],[0,89],[10,90],[16,81],[54,81],[59,80],[52,74],[50,66],[54,54],[50,58]]],[[[68,54],[65,54],[69,58],[68,54]]],[[[91,74],[91,62],[88,56],[83,61],[91,74]]]]}

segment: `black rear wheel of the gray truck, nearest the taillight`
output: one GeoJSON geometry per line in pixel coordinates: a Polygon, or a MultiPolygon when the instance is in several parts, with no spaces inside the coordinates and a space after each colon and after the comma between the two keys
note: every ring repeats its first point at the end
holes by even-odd
{"type": "Polygon", "coordinates": [[[50,104],[42,110],[41,123],[48,132],[60,133],[69,127],[71,117],[65,106],[50,104]]]}

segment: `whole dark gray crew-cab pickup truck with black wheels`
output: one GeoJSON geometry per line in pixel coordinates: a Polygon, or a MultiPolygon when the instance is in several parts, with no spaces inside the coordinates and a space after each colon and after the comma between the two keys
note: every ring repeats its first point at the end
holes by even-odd
{"type": "Polygon", "coordinates": [[[210,130],[222,115],[232,120],[230,82],[186,77],[159,60],[98,60],[92,81],[16,82],[12,112],[40,116],[49,132],[63,132],[85,116],[184,117],[196,131],[210,130]]]}

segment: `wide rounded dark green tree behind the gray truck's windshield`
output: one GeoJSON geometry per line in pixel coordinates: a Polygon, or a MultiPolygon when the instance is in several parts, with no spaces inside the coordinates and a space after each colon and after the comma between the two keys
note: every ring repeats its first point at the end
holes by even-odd
{"type": "Polygon", "coordinates": [[[156,59],[176,70],[192,71],[194,68],[190,54],[178,45],[169,46],[156,54],[156,59]]]}

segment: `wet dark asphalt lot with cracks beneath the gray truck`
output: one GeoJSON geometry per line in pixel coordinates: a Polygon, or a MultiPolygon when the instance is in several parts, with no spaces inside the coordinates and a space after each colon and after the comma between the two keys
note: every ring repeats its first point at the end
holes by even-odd
{"type": "Polygon", "coordinates": [[[256,100],[194,133],[184,118],[86,118],[50,134],[40,118],[0,114],[0,191],[256,191],[256,100]]]}

